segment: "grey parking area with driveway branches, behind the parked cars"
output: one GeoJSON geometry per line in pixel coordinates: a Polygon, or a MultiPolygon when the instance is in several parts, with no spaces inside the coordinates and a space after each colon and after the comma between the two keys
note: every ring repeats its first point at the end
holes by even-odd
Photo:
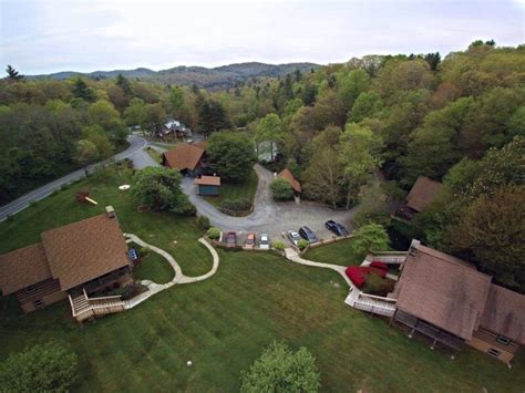
{"type": "Polygon", "coordinates": [[[309,226],[319,238],[328,239],[331,237],[331,232],[325,228],[325,223],[328,219],[333,219],[346,225],[349,229],[351,228],[351,219],[356,209],[332,210],[317,204],[275,203],[269,187],[274,174],[260,165],[256,165],[255,170],[259,177],[259,184],[254,201],[254,213],[246,217],[231,217],[217,210],[215,206],[196,194],[192,178],[184,178],[183,189],[189,196],[189,200],[195,205],[197,211],[208,217],[213,226],[223,230],[266,232],[271,240],[277,240],[281,238],[282,231],[297,230],[302,225],[309,226]]]}

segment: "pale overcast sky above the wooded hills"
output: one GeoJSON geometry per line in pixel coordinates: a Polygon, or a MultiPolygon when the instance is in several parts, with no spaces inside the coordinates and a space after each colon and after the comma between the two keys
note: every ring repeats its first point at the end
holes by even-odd
{"type": "Polygon", "coordinates": [[[523,43],[524,10],[525,0],[0,0],[0,64],[35,74],[444,55],[475,39],[523,43]]]}

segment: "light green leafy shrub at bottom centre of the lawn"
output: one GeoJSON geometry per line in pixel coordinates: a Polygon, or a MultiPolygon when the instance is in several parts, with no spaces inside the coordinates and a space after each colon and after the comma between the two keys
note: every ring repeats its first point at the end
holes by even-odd
{"type": "Polygon", "coordinates": [[[321,385],[316,359],[301,347],[292,352],[274,342],[241,376],[241,392],[317,392],[321,385]]]}

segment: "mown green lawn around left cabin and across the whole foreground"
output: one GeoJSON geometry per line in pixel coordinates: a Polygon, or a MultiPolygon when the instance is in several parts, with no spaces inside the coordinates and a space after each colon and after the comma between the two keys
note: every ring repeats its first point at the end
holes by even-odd
{"type": "MultiPolygon", "coordinates": [[[[91,187],[99,206],[74,200],[83,187],[79,184],[0,223],[0,251],[38,241],[42,229],[101,213],[111,203],[124,230],[169,250],[187,275],[207,271],[212,257],[197,242],[194,220],[137,214],[127,194],[116,189],[128,182],[126,174],[120,177],[91,187]]],[[[310,252],[331,258],[342,252],[332,247],[343,246],[310,252]]],[[[317,358],[322,391],[521,392],[525,386],[524,351],[512,370],[469,348],[453,361],[385,320],[346,306],[347,287],[333,271],[272,254],[218,252],[213,278],[175,286],[82,328],[70,318],[66,302],[24,316],[13,297],[1,298],[0,359],[53,339],[79,355],[73,391],[235,392],[241,370],[272,340],[286,340],[317,358]]]]}

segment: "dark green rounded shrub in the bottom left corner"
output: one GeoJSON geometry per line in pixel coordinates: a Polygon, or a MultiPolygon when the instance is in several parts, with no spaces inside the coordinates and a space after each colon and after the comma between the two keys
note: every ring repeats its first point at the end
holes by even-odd
{"type": "Polygon", "coordinates": [[[0,366],[0,386],[2,392],[68,392],[76,371],[76,354],[48,342],[10,355],[0,366]]]}

